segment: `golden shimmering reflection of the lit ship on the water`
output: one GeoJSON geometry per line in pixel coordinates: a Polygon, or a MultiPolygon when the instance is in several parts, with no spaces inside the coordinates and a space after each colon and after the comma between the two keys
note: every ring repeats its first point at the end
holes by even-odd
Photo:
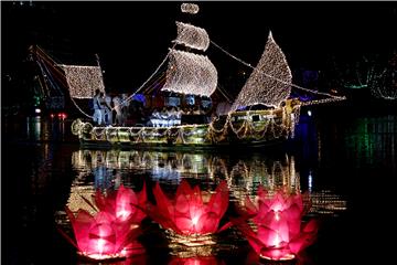
{"type": "MultiPolygon", "coordinates": [[[[287,188],[291,193],[301,192],[301,177],[296,169],[294,157],[287,153],[275,157],[253,153],[249,158],[233,161],[228,155],[214,152],[79,149],[73,153],[72,162],[81,172],[75,180],[78,192],[89,193],[95,188],[117,189],[130,172],[173,184],[178,184],[182,178],[204,182],[225,179],[230,190],[230,201],[236,202],[243,202],[247,195],[254,198],[259,184],[270,192],[280,188],[287,188]],[[98,167],[105,173],[98,174],[98,167]],[[79,188],[78,181],[84,183],[84,178],[93,174],[94,187],[79,188]]],[[[346,209],[346,201],[329,190],[310,187],[309,198],[313,213],[333,214],[346,209]]]]}

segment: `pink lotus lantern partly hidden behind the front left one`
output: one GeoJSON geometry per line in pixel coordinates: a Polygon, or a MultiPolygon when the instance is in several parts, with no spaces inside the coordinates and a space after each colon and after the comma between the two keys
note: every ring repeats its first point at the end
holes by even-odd
{"type": "Polygon", "coordinates": [[[118,222],[139,224],[146,218],[146,213],[137,208],[147,202],[144,182],[142,190],[137,193],[122,184],[116,192],[106,197],[98,190],[94,195],[94,201],[100,211],[112,214],[118,222]]]}

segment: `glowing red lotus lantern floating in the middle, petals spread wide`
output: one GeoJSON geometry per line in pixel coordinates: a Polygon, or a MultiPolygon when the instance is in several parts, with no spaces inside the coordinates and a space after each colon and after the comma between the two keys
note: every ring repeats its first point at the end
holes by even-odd
{"type": "Polygon", "coordinates": [[[228,206],[226,181],[222,181],[214,193],[210,193],[201,191],[197,186],[191,188],[186,180],[182,180],[173,199],[169,199],[157,182],[153,195],[155,205],[148,204],[148,214],[180,244],[211,244],[206,236],[230,225],[226,223],[219,229],[219,221],[228,206]]]}

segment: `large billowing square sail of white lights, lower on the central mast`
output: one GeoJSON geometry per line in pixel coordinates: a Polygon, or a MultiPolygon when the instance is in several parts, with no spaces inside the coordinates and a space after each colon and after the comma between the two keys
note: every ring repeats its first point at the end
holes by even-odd
{"type": "Polygon", "coordinates": [[[217,71],[207,56],[171,49],[162,91],[210,97],[216,85],[217,71]]]}

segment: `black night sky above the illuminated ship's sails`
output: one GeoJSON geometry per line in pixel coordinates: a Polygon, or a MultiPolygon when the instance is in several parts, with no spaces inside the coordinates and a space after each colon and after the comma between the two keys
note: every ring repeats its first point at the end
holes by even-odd
{"type": "MultiPolygon", "coordinates": [[[[65,64],[105,70],[115,91],[139,87],[155,70],[176,35],[175,20],[186,21],[181,2],[1,2],[2,82],[18,76],[30,44],[65,64]]],[[[198,2],[191,23],[232,54],[259,60],[269,29],[291,68],[322,70],[331,56],[351,57],[393,51],[397,2],[198,2]]],[[[210,46],[219,83],[239,64],[210,46]]]]}

